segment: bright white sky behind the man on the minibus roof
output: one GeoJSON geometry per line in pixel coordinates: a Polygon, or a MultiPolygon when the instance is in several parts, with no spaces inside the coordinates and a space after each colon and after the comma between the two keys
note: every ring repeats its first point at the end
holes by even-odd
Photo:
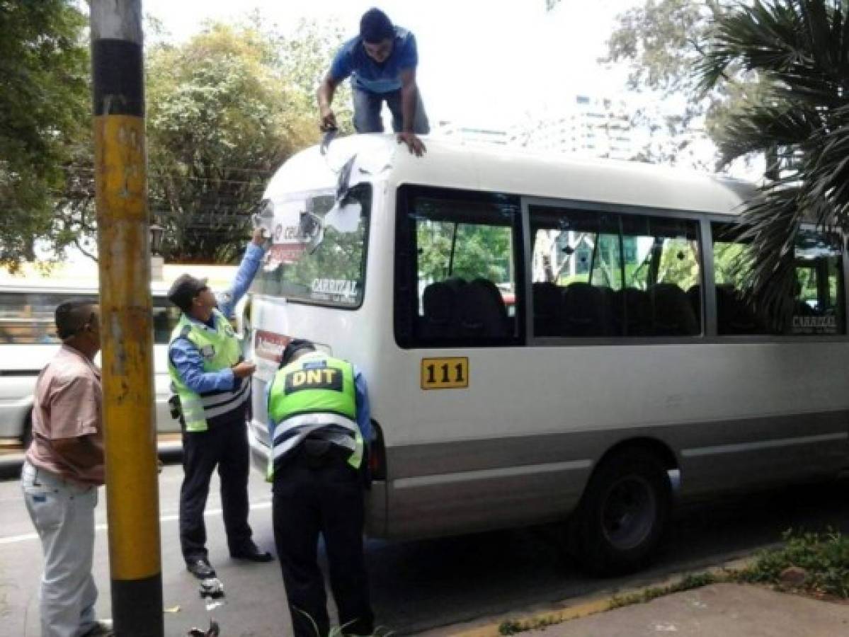
{"type": "MultiPolygon", "coordinates": [[[[575,94],[622,97],[626,70],[597,59],[616,14],[639,0],[383,0],[391,20],[419,45],[419,90],[431,124],[510,126],[556,110],[575,94]]],[[[183,41],[206,20],[233,20],[258,9],[281,30],[301,19],[333,20],[351,36],[374,3],[359,0],[143,0],[172,39],[183,41]]],[[[328,64],[329,64],[328,60],[328,64]]]]}

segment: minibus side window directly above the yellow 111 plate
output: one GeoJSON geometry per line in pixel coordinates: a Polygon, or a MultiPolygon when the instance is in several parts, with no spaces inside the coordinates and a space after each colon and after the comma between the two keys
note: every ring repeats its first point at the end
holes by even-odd
{"type": "MultiPolygon", "coordinates": [[[[396,291],[409,311],[412,344],[516,344],[516,236],[514,198],[475,193],[417,195],[399,215],[411,249],[404,265],[412,284],[396,291]]],[[[396,321],[396,325],[400,322],[396,321]]]]}

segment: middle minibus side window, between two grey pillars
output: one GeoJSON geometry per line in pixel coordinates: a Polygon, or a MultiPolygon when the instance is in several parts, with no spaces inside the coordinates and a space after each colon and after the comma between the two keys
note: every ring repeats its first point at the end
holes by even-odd
{"type": "Polygon", "coordinates": [[[537,205],[529,212],[534,336],[702,333],[696,221],[537,205]]]}

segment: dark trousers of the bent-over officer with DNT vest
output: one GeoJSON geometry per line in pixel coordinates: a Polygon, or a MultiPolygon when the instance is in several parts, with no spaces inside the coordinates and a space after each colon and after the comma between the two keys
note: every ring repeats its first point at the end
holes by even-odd
{"type": "Polygon", "coordinates": [[[374,616],[363,556],[362,479],[338,455],[327,454],[317,461],[303,450],[294,454],[274,473],[273,518],[295,637],[329,633],[327,596],[318,568],[319,534],[327,548],[330,588],[342,632],[372,634],[374,616]]]}

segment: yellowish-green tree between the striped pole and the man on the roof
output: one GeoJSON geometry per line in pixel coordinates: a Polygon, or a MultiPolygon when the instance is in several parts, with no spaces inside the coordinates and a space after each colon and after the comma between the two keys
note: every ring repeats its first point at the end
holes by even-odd
{"type": "Polygon", "coordinates": [[[273,170],[318,141],[314,91],[339,41],[312,24],[281,36],[255,18],[149,53],[150,208],[166,260],[241,253],[273,170]]]}

